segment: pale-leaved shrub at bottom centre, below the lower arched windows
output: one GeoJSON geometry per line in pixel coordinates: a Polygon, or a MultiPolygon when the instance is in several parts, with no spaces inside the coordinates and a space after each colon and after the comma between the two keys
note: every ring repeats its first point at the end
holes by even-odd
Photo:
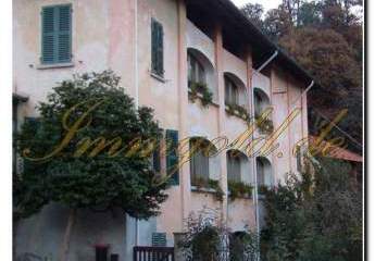
{"type": "Polygon", "coordinates": [[[197,217],[191,213],[186,221],[185,231],[178,243],[184,260],[257,260],[259,240],[255,233],[248,229],[232,233],[215,210],[203,208],[197,217]]]}

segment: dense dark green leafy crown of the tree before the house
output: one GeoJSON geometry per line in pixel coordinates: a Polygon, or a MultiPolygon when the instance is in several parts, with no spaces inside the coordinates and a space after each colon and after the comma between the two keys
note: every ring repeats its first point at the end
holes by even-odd
{"type": "Polygon", "coordinates": [[[140,219],[158,214],[160,203],[166,199],[163,192],[166,184],[154,185],[150,154],[140,150],[129,156],[125,153],[136,138],[159,142],[160,127],[153,120],[152,110],[137,109],[120,87],[120,78],[110,71],[78,75],[54,87],[47,101],[37,108],[39,127],[32,123],[23,125],[17,140],[20,154],[29,151],[28,157],[39,158],[50,153],[67,133],[62,124],[66,111],[85,102],[68,115],[66,127],[71,128],[98,100],[104,102],[89,114],[57,156],[45,161],[24,158],[24,172],[14,189],[15,206],[22,216],[38,212],[51,201],[73,209],[102,211],[120,208],[140,219]],[[109,146],[90,157],[95,144],[80,157],[75,157],[84,138],[95,140],[99,137],[107,141],[121,138],[123,152],[109,157],[109,146]]]}

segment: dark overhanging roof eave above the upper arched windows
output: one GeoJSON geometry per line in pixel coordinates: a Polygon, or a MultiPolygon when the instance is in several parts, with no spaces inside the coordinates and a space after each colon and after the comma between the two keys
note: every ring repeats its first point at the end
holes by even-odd
{"type": "Polygon", "coordinates": [[[268,57],[278,51],[275,61],[283,64],[292,75],[303,79],[305,87],[313,80],[313,77],[301,65],[263,34],[230,0],[186,0],[186,2],[207,10],[209,14],[216,13],[221,21],[225,21],[224,26],[234,25],[241,37],[258,50],[270,53],[268,57]]]}

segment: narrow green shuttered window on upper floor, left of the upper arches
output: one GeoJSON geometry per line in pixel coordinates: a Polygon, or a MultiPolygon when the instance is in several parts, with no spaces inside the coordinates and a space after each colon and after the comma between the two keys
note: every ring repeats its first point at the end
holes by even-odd
{"type": "Polygon", "coordinates": [[[151,20],[151,70],[158,76],[164,76],[163,26],[151,20]]]}

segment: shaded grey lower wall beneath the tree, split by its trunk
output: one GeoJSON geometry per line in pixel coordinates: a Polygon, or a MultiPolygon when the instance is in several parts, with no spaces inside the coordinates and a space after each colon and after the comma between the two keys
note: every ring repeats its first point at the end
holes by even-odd
{"type": "MultiPolygon", "coordinates": [[[[67,225],[70,210],[52,203],[27,220],[20,222],[16,235],[17,257],[33,253],[45,260],[59,260],[67,225]]],[[[91,261],[95,245],[109,244],[110,252],[125,261],[125,219],[121,211],[92,213],[77,212],[71,240],[68,260],[91,261]]]]}

